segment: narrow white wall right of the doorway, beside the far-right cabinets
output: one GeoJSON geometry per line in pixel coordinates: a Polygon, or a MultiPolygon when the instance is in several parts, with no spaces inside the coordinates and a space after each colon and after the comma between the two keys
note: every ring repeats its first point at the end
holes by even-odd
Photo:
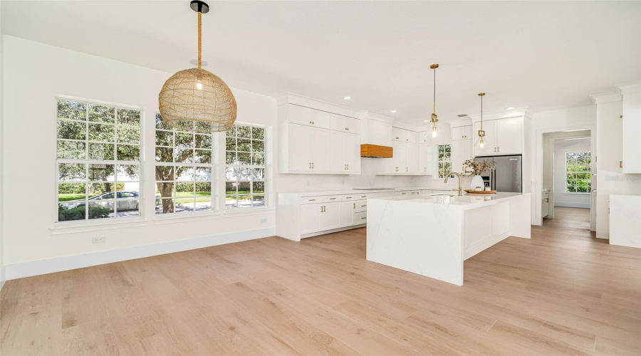
{"type": "MultiPolygon", "coordinates": [[[[616,95],[615,95],[616,96],[616,95]]],[[[610,238],[610,194],[641,194],[640,174],[623,174],[623,127],[620,115],[623,106],[620,95],[597,107],[597,229],[596,236],[610,238]]]]}

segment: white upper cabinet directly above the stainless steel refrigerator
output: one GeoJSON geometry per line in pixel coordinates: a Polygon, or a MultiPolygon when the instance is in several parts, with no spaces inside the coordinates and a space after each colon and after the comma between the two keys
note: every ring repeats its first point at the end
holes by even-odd
{"type": "Polygon", "coordinates": [[[521,155],[523,153],[523,117],[486,120],[483,122],[484,147],[481,147],[476,132],[481,122],[474,122],[474,156],[521,155]]]}

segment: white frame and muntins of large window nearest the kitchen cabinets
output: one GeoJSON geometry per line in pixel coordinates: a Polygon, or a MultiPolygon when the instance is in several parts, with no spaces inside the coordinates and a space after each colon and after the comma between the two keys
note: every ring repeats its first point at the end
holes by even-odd
{"type": "MultiPolygon", "coordinates": [[[[268,197],[269,196],[269,194],[268,194],[269,183],[270,183],[270,177],[271,177],[269,175],[269,172],[271,171],[271,169],[269,167],[269,153],[268,153],[269,147],[267,147],[268,140],[271,140],[271,136],[269,135],[269,126],[260,125],[260,124],[256,124],[256,123],[252,123],[252,122],[239,122],[239,121],[234,122],[234,126],[237,126],[237,125],[248,126],[248,127],[256,127],[256,128],[261,128],[261,129],[264,130],[263,140],[262,140],[262,142],[263,142],[263,152],[262,153],[263,153],[264,162],[263,162],[263,164],[227,164],[227,162],[226,162],[226,157],[227,157],[227,145],[226,145],[227,132],[221,132],[221,141],[222,141],[221,142],[221,146],[223,147],[223,150],[222,150],[223,152],[222,152],[222,155],[221,155],[221,157],[222,157],[222,162],[221,162],[222,163],[222,169],[221,169],[221,171],[222,171],[222,174],[221,174],[222,175],[222,195],[221,195],[222,208],[221,209],[223,209],[225,214],[238,214],[238,213],[242,213],[242,212],[246,212],[246,211],[269,209],[269,206],[270,206],[269,204],[271,202],[269,197],[268,197]],[[262,180],[254,180],[252,178],[249,181],[239,181],[239,180],[228,181],[227,177],[226,177],[226,171],[227,171],[228,167],[264,169],[264,177],[263,177],[262,180]],[[235,208],[227,208],[227,204],[226,204],[226,198],[227,198],[226,184],[227,184],[227,182],[249,182],[250,193],[249,194],[241,194],[241,195],[249,195],[249,200],[250,201],[253,201],[253,197],[254,197],[254,184],[253,183],[254,182],[263,182],[263,193],[262,194],[259,193],[259,194],[261,194],[263,196],[264,203],[262,205],[254,206],[253,202],[252,202],[251,206],[245,206],[245,207],[236,206],[235,208]]],[[[237,134],[236,134],[236,139],[238,139],[238,135],[237,134]]],[[[250,140],[254,140],[254,139],[251,138],[250,140]]],[[[237,147],[237,142],[236,142],[236,151],[234,151],[234,152],[239,152],[238,151],[238,147],[237,147]]],[[[240,151],[240,152],[245,152],[245,151],[240,151]]],[[[250,153],[253,154],[254,152],[252,151],[250,153]]],[[[236,197],[239,197],[237,189],[236,189],[236,197]]]]}

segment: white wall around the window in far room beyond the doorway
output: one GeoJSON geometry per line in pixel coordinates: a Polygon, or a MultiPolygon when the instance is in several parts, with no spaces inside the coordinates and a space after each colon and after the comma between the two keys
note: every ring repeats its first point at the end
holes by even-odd
{"type": "Polygon", "coordinates": [[[554,206],[590,207],[590,194],[566,193],[566,152],[590,151],[590,137],[554,140],[553,203],[554,206]]]}

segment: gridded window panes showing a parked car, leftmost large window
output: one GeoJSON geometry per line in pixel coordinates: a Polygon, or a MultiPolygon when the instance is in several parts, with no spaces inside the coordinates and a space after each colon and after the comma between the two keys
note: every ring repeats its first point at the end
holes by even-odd
{"type": "Polygon", "coordinates": [[[140,214],[140,114],[58,100],[58,221],[140,214]]]}

